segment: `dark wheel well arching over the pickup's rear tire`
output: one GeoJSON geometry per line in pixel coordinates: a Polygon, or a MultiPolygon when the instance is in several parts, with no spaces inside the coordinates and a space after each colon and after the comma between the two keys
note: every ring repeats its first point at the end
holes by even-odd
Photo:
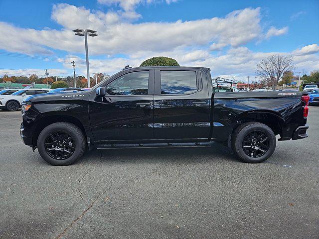
{"type": "Polygon", "coordinates": [[[254,113],[242,116],[241,118],[237,120],[233,130],[235,130],[235,128],[237,128],[240,124],[251,122],[251,121],[264,123],[274,131],[275,135],[278,135],[278,134],[282,135],[283,119],[276,116],[275,114],[266,113],[266,112],[254,112],[254,113]]]}

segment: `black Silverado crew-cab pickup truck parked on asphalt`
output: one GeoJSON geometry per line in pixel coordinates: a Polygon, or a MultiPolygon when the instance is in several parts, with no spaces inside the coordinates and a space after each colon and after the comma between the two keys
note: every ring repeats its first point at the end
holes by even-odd
{"type": "Polygon", "coordinates": [[[307,92],[214,92],[209,68],[127,67],[92,90],[22,104],[21,138],[53,165],[84,150],[210,146],[243,161],[268,159],[278,140],[308,137],[307,92]]]}

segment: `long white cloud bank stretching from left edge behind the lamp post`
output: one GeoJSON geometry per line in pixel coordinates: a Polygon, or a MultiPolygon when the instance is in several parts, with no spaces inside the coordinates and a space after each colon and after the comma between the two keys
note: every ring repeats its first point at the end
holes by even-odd
{"type": "Polygon", "coordinates": [[[0,48],[27,54],[50,54],[49,48],[72,53],[83,52],[83,38],[74,28],[91,28],[99,36],[89,37],[90,54],[132,54],[137,51],[170,51],[177,47],[206,47],[212,42],[220,46],[240,46],[261,34],[260,9],[236,10],[225,17],[193,21],[144,22],[133,24],[115,12],[92,13],[84,7],[60,3],[53,6],[52,19],[61,30],[19,28],[0,22],[0,31],[10,36],[0,38],[0,48]]]}

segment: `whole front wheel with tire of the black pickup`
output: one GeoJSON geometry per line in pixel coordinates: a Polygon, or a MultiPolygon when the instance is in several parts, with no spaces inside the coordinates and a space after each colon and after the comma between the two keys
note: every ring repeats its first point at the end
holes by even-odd
{"type": "Polygon", "coordinates": [[[41,157],[51,165],[65,166],[77,161],[84,153],[85,140],[82,130],[67,122],[46,126],[37,141],[41,157]]]}

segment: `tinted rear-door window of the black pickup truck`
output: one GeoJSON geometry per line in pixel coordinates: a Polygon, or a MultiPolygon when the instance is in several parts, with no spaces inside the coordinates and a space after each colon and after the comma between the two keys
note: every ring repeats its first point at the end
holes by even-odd
{"type": "Polygon", "coordinates": [[[160,71],[160,92],[189,94],[198,90],[195,71],[160,71]]]}

